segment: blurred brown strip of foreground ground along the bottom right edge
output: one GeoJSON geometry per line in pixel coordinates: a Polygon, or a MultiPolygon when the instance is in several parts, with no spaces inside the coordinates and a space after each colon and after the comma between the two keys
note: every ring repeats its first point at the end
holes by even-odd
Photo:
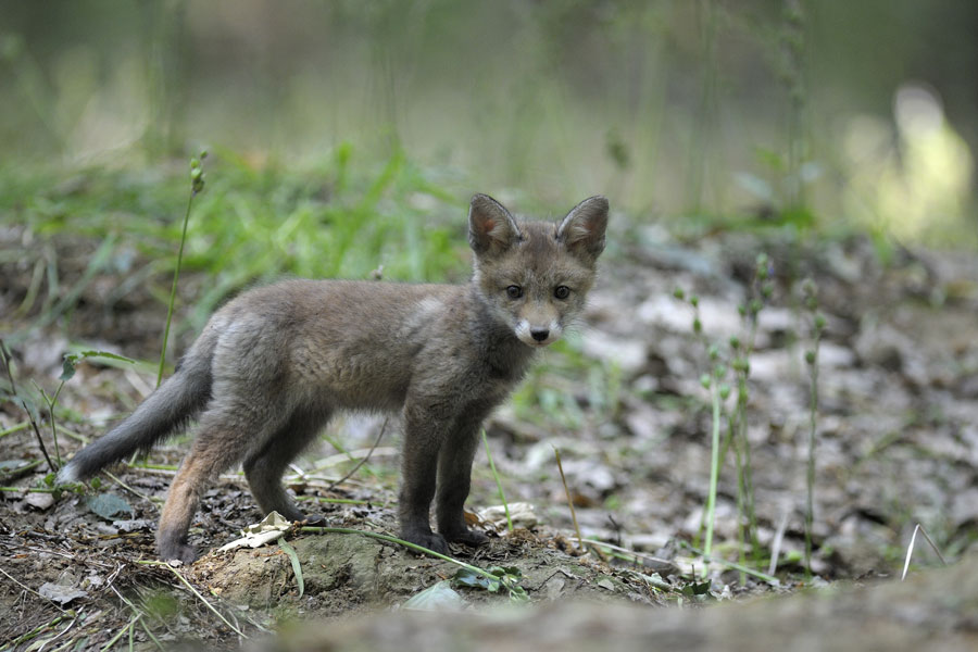
{"type": "Polygon", "coordinates": [[[659,610],[654,618],[644,607],[580,601],[486,610],[449,622],[439,613],[402,611],[385,618],[289,627],[252,649],[966,652],[978,647],[976,614],[978,559],[971,555],[951,568],[921,573],[906,582],[840,582],[831,590],[776,600],[727,602],[707,610],[659,610]],[[949,592],[951,585],[961,588],[949,592]]]}

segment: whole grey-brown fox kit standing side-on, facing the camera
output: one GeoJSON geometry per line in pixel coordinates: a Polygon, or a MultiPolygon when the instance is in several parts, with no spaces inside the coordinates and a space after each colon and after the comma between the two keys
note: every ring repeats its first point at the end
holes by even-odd
{"type": "Polygon", "coordinates": [[[156,531],[162,559],[191,562],[187,530],[218,474],[243,462],[263,512],[306,521],[281,486],[289,462],[338,410],[400,412],[401,537],[438,552],[446,541],[482,543],[462,514],[479,427],[580,313],[606,224],[603,197],[552,224],[517,222],[476,195],[466,285],[286,280],[244,292],[211,317],[176,373],[58,479],[90,477],[197,418],[156,531]]]}

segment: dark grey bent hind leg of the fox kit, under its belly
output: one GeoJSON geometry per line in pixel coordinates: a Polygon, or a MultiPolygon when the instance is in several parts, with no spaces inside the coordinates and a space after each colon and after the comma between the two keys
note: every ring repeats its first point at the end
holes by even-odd
{"type": "Polygon", "coordinates": [[[289,521],[311,523],[323,519],[321,516],[306,517],[296,506],[281,485],[281,476],[289,462],[309,446],[328,417],[328,413],[293,414],[265,446],[246,457],[244,475],[263,514],[278,512],[289,521]]]}

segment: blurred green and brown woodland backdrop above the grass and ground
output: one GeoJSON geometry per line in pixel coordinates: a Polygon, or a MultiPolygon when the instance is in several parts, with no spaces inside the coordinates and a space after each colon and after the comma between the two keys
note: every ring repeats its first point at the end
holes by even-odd
{"type": "Polygon", "coordinates": [[[3,200],[208,145],[308,179],[398,158],[460,206],[975,247],[976,34],[961,0],[3,1],[3,200]]]}

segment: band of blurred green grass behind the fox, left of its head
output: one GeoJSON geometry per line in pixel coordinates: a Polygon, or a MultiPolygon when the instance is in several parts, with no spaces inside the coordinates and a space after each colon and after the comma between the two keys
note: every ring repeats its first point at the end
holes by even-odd
{"type": "MultiPolygon", "coordinates": [[[[179,330],[199,330],[228,294],[284,275],[414,281],[467,276],[467,206],[446,190],[453,183],[449,174],[422,170],[402,152],[366,161],[343,145],[335,154],[315,166],[284,167],[212,151],[183,261],[184,271],[203,272],[209,280],[179,330]]],[[[33,243],[2,250],[0,259],[13,255],[26,269],[36,266],[38,288],[48,297],[34,302],[35,310],[24,309],[40,311],[34,325],[70,313],[100,273],[121,276],[122,293],[149,283],[165,305],[164,272],[176,264],[188,185],[184,166],[175,165],[78,168],[67,177],[37,166],[0,168],[4,221],[24,225],[20,239],[33,243]],[[101,242],[80,278],[59,278],[57,254],[39,247],[57,235],[62,244],[77,236],[101,242]]]]}

